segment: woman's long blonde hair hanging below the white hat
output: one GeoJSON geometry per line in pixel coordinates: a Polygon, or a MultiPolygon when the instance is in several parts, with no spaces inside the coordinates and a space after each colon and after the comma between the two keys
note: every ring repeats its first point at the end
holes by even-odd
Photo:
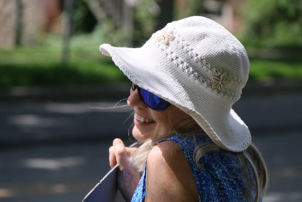
{"type": "MultiPolygon", "coordinates": [[[[197,136],[203,136],[209,139],[209,137],[203,132],[201,128],[195,129],[191,131],[189,134],[176,133],[175,135],[185,137],[193,141],[197,145],[194,151],[194,161],[197,167],[200,169],[202,169],[202,167],[199,164],[199,160],[204,154],[210,151],[224,152],[223,149],[221,149],[214,143],[197,144],[197,142],[194,141],[195,137],[197,136]]],[[[143,172],[145,169],[147,155],[149,151],[152,149],[152,147],[159,141],[172,136],[174,135],[162,135],[157,137],[156,139],[148,139],[138,144],[137,151],[131,154],[131,156],[129,157],[129,161],[131,165],[136,167],[138,171],[143,172]]],[[[246,198],[248,199],[250,197],[252,192],[252,187],[255,186],[256,195],[254,201],[258,202],[260,194],[264,195],[268,187],[268,171],[265,161],[262,157],[262,154],[253,143],[245,151],[242,152],[229,152],[229,151],[225,151],[225,152],[228,152],[228,154],[232,154],[238,157],[240,164],[243,166],[246,172],[246,176],[248,177],[248,182],[249,182],[248,190],[246,192],[246,198]],[[252,174],[254,176],[253,180],[251,179],[251,173],[249,171],[248,164],[252,168],[252,174]]]]}

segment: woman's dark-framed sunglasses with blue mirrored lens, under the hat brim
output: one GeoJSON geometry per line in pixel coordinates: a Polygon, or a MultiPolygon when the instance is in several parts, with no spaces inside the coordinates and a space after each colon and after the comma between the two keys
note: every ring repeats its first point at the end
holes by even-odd
{"type": "Polygon", "coordinates": [[[171,103],[168,101],[165,101],[157,95],[140,88],[138,85],[132,82],[132,90],[135,91],[135,89],[137,89],[140,100],[151,109],[162,111],[171,105],[171,103]]]}

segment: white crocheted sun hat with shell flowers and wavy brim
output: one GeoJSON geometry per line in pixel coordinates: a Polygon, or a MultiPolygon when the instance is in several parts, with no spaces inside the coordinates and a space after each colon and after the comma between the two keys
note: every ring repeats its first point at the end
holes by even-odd
{"type": "Polygon", "coordinates": [[[168,23],[141,48],[100,46],[141,88],[185,111],[219,147],[243,151],[248,127],[233,111],[249,74],[243,45],[201,16],[168,23]]]}

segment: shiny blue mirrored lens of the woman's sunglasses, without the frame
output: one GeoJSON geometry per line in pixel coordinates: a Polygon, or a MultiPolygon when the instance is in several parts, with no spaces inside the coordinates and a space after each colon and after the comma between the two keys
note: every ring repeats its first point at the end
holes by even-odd
{"type": "Polygon", "coordinates": [[[166,107],[167,101],[159,98],[157,95],[143,89],[139,88],[139,93],[141,95],[142,101],[150,108],[162,110],[166,107]]]}

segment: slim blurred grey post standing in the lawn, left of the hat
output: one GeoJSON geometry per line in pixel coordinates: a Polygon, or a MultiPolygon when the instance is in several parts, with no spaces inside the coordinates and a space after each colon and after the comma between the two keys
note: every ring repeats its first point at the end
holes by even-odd
{"type": "Polygon", "coordinates": [[[71,34],[72,23],[72,7],[73,0],[65,0],[63,4],[64,18],[63,18],[63,51],[62,51],[62,63],[66,64],[69,60],[69,41],[71,34]]]}

